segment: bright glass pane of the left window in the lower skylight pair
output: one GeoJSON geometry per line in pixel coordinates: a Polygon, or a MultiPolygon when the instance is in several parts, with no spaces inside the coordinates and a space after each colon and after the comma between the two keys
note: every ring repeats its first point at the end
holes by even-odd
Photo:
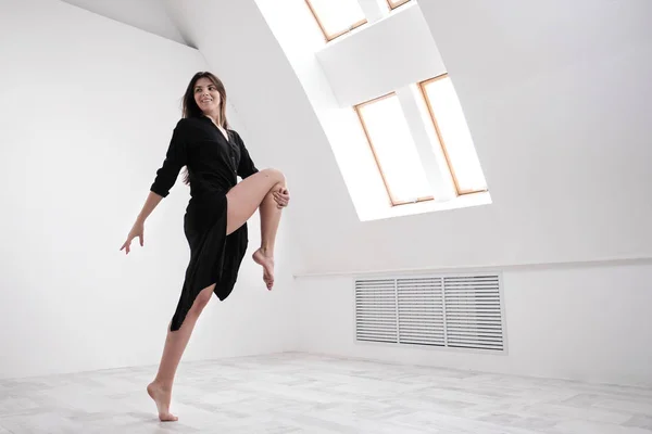
{"type": "Polygon", "coordinates": [[[387,97],[360,107],[367,135],[393,203],[431,196],[431,188],[399,99],[387,97]]]}

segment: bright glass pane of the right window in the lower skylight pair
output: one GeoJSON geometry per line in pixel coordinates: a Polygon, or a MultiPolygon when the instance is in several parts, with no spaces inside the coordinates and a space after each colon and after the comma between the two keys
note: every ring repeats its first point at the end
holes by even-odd
{"type": "Polygon", "coordinates": [[[424,86],[460,192],[487,190],[482,168],[450,78],[424,86]]]}

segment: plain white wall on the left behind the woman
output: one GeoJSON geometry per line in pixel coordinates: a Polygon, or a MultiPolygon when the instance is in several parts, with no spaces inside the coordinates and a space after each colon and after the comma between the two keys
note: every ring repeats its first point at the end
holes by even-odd
{"type": "MultiPolygon", "coordinates": [[[[205,61],[51,0],[0,2],[0,39],[12,41],[0,44],[0,378],[155,365],[188,260],[188,189],[178,182],[152,214],[143,248],[118,248],[205,61]]],[[[187,360],[291,347],[287,301],[261,277],[248,257],[231,297],[204,311],[187,360]]]]}

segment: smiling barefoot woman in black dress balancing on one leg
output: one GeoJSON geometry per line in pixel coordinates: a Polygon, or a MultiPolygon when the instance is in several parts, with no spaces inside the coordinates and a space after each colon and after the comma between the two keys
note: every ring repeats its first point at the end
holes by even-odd
{"type": "Polygon", "coordinates": [[[197,73],[186,89],[184,116],[174,129],[163,165],[121,251],[128,254],[136,237],[143,245],[145,220],[167,196],[184,166],[191,196],[184,218],[190,263],[159,372],[147,387],[162,421],[177,420],[170,412],[176,369],[212,293],[222,301],[230,294],[247,251],[247,220],[258,208],[261,247],[253,260],[263,267],[263,280],[272,290],[274,241],[281,208],[289,201],[284,175],[275,169],[259,171],[240,136],[228,128],[222,81],[211,73],[197,73]],[[242,178],[239,183],[238,176],[242,178]]]}

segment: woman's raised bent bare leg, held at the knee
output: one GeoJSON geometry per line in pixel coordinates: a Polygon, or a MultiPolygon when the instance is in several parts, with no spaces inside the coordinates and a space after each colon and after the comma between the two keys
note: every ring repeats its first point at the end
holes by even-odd
{"type": "Polygon", "coordinates": [[[274,244],[281,214],[272,193],[285,189],[285,182],[280,171],[264,169],[242,180],[226,195],[227,234],[240,228],[260,208],[261,247],[253,253],[253,260],[263,267],[263,281],[267,290],[274,285],[274,244]]]}

